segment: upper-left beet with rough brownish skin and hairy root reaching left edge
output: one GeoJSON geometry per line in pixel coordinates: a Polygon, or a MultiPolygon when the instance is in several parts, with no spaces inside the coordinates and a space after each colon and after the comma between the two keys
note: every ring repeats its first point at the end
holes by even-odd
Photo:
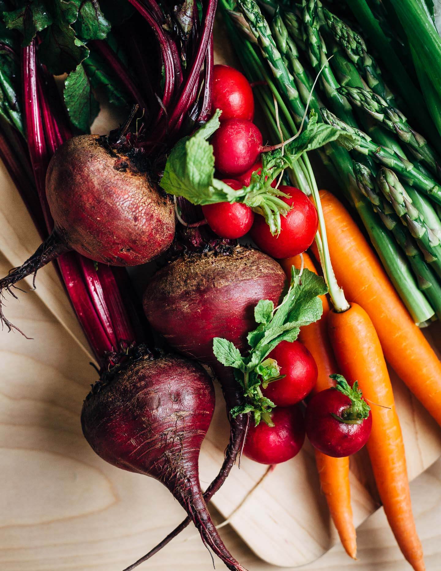
{"type": "MultiPolygon", "coordinates": [[[[146,172],[94,135],[68,139],[46,175],[54,230],[19,268],[0,280],[11,287],[64,252],[75,250],[111,266],[136,266],[156,258],[175,235],[173,204],[146,172]]],[[[3,316],[9,330],[14,327],[3,316]]]]}

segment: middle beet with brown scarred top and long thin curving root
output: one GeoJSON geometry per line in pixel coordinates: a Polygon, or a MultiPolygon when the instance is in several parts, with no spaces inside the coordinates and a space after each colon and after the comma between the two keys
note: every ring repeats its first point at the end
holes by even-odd
{"type": "MultiPolygon", "coordinates": [[[[230,255],[210,252],[181,256],[161,268],[145,290],[144,311],[152,327],[173,348],[209,365],[222,386],[231,435],[221,471],[204,494],[207,501],[233,467],[249,420],[248,415],[230,417],[230,410],[242,404],[243,391],[232,369],[213,355],[213,337],[224,337],[244,351],[248,346],[246,335],[256,327],[255,305],[260,299],[277,303],[284,285],[284,272],[273,259],[253,248],[237,246],[230,255]]],[[[189,521],[187,518],[137,564],[159,551],[189,521]]]]}

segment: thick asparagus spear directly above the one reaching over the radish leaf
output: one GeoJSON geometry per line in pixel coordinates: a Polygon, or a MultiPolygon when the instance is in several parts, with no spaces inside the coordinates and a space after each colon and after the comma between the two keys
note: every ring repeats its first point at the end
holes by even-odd
{"type": "Polygon", "coordinates": [[[381,122],[389,131],[395,132],[414,153],[416,159],[422,160],[428,168],[440,176],[440,160],[426,139],[414,131],[407,123],[406,117],[397,108],[390,106],[381,96],[359,87],[339,87],[338,92],[351,103],[369,113],[381,122]]]}

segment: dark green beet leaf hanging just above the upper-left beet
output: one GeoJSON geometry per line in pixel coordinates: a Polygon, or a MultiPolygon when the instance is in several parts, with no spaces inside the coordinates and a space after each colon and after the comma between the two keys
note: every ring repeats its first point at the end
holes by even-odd
{"type": "Polygon", "coordinates": [[[81,131],[88,132],[99,106],[81,63],[67,76],[63,96],[71,122],[81,131]]]}

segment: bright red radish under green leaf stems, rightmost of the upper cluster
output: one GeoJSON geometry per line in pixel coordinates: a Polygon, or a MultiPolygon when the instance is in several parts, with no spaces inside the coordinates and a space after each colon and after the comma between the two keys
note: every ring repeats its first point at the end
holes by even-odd
{"type": "Polygon", "coordinates": [[[293,186],[280,186],[290,198],[281,199],[291,210],[281,217],[281,231],[273,236],[263,216],[256,216],[251,237],[257,246],[273,258],[289,258],[308,250],[318,228],[317,210],[308,196],[293,186]]]}

